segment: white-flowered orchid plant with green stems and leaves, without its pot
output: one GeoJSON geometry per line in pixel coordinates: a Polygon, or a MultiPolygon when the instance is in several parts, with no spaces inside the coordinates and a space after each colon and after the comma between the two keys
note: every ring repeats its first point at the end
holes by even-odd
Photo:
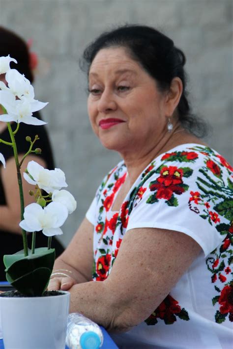
{"type": "MultiPolygon", "coordinates": [[[[38,135],[35,135],[33,140],[27,136],[29,150],[19,161],[15,134],[22,123],[46,124],[33,117],[32,113],[45,107],[47,103],[34,99],[34,89],[30,81],[16,69],[10,69],[11,61],[17,63],[9,55],[0,57],[0,75],[4,74],[6,82],[0,81],[0,108],[3,111],[0,121],[7,123],[11,139],[11,142],[7,142],[0,138],[0,143],[11,146],[14,152],[21,206],[19,225],[22,229],[24,249],[13,255],[5,255],[3,262],[6,267],[6,279],[16,290],[26,296],[41,296],[48,286],[55,261],[55,249],[51,248],[52,236],[62,234],[60,227],[76,209],[76,201],[69,191],[61,189],[67,187],[63,171],[59,168],[48,170],[35,161],[29,161],[23,176],[29,184],[35,186],[29,194],[35,197],[36,202],[24,207],[21,167],[29,154],[40,154],[41,149],[34,149],[38,135]],[[35,248],[36,232],[41,230],[48,237],[48,246],[35,248]],[[32,233],[31,249],[28,247],[27,232],[32,233]]],[[[0,161],[5,167],[6,163],[1,153],[0,161]]]]}

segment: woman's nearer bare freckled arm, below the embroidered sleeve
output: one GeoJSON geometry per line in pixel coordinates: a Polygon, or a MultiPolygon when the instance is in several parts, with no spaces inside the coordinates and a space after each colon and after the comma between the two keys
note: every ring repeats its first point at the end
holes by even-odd
{"type": "Polygon", "coordinates": [[[70,311],[108,330],[127,331],[157,308],[200,252],[199,244],[183,233],[132,229],[125,234],[105,281],[70,288],[70,311]]]}

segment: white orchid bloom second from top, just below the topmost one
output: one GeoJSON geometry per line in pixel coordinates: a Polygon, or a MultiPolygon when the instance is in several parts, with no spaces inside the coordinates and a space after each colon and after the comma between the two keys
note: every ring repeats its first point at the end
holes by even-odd
{"type": "Polygon", "coordinates": [[[34,88],[30,81],[20,74],[16,69],[10,69],[6,72],[5,80],[8,83],[8,88],[15,96],[21,99],[34,100],[34,88]]]}

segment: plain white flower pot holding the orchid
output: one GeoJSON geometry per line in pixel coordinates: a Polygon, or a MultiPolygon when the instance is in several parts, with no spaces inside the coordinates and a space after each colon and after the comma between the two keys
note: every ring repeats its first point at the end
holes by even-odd
{"type": "Polygon", "coordinates": [[[0,297],[4,349],[64,349],[69,292],[48,297],[0,297]]]}

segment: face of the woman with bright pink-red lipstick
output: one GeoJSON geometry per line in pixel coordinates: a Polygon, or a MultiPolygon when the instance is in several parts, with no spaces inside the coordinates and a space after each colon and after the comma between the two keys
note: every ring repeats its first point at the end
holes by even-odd
{"type": "Polygon", "coordinates": [[[100,50],[88,80],[90,123],[106,148],[124,153],[156,144],[166,129],[166,97],[124,48],[100,50]]]}

